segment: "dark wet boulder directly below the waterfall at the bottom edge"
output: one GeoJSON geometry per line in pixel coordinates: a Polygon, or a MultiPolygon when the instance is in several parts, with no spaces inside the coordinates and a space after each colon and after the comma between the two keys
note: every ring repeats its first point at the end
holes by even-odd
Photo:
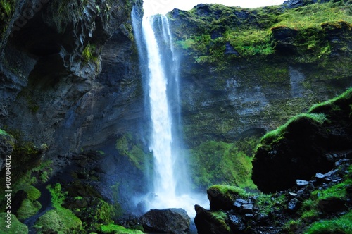
{"type": "Polygon", "coordinates": [[[158,233],[187,233],[191,218],[184,209],[151,209],[141,218],[145,230],[158,233]]]}

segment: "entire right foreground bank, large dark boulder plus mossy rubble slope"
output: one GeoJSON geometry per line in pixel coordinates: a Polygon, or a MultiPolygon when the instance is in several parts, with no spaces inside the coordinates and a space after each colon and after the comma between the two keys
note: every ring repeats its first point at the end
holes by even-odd
{"type": "Polygon", "coordinates": [[[352,89],[265,135],[253,181],[271,193],[210,187],[199,233],[351,233],[351,104],[352,89]]]}

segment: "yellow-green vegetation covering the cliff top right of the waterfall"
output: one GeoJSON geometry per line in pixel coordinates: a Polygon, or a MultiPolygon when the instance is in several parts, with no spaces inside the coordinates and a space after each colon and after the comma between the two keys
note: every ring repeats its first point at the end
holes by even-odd
{"type": "Polygon", "coordinates": [[[296,47],[298,56],[315,60],[330,51],[322,24],[335,25],[343,21],[351,27],[352,22],[350,1],[308,4],[293,9],[201,4],[191,11],[172,11],[169,17],[177,19],[172,25],[179,48],[185,49],[197,63],[215,63],[219,69],[239,57],[258,59],[275,54],[272,30],[279,28],[289,28],[296,33],[288,39],[296,47]]]}

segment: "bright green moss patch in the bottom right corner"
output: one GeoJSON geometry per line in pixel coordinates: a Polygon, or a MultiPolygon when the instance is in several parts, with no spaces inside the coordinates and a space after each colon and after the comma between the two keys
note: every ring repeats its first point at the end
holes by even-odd
{"type": "Polygon", "coordinates": [[[352,211],[338,218],[313,223],[305,232],[306,234],[318,233],[352,233],[352,211]]]}

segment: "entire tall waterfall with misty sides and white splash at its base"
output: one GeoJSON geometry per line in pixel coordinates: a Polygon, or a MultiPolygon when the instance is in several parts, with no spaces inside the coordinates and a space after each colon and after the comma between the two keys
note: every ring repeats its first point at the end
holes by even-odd
{"type": "Polygon", "coordinates": [[[182,124],[179,61],[172,46],[168,18],[144,16],[141,29],[132,13],[132,23],[134,35],[138,37],[142,73],[147,80],[145,97],[151,120],[149,149],[154,160],[153,196],[147,196],[146,209],[183,208],[194,216],[194,204],[206,197],[191,193],[187,163],[179,150],[182,145],[177,130],[182,124]]]}

